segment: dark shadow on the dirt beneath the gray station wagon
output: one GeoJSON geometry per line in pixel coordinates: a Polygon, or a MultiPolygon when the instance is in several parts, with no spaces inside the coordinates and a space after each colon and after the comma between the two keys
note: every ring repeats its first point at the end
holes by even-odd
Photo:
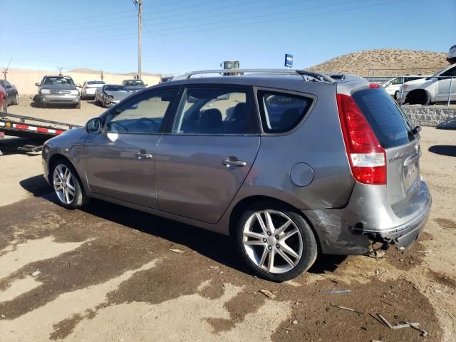
{"type": "MultiPolygon", "coordinates": [[[[42,175],[22,180],[20,185],[34,196],[42,197],[49,202],[58,204],[57,197],[53,194],[51,187],[46,183],[42,175]]],[[[209,232],[205,229],[192,227],[171,219],[164,219],[153,214],[147,214],[98,199],[92,199],[81,210],[95,217],[100,217],[146,234],[152,234],[169,242],[182,244],[220,264],[244,273],[251,273],[238,256],[232,240],[222,234],[209,232]]],[[[325,271],[334,271],[345,259],[345,256],[321,255],[317,258],[314,266],[309,269],[309,272],[322,274],[325,271]]]]}

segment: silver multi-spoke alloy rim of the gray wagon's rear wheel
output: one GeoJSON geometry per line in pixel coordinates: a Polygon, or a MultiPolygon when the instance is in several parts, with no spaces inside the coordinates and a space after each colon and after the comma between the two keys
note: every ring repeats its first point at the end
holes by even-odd
{"type": "Polygon", "coordinates": [[[283,212],[271,209],[254,212],[247,219],[242,243],[249,259],[273,274],[290,271],[303,254],[301,232],[296,224],[283,212]]]}

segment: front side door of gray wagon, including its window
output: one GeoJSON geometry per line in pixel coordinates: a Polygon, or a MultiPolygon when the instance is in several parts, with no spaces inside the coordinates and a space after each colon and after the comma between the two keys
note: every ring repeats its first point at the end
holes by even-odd
{"type": "Polygon", "coordinates": [[[157,208],[155,150],[178,88],[150,90],[114,106],[84,143],[90,192],[157,208]]]}

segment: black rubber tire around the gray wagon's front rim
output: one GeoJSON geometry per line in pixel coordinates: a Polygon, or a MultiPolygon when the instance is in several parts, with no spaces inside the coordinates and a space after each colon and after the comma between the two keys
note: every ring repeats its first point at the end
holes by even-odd
{"type": "Polygon", "coordinates": [[[58,204],[61,204],[62,207],[65,207],[66,209],[77,209],[79,207],[83,207],[84,205],[88,204],[89,202],[89,197],[86,195],[86,192],[84,192],[83,185],[81,183],[81,179],[78,176],[78,172],[76,172],[75,168],[73,165],[71,165],[71,162],[69,162],[66,159],[59,159],[56,160],[55,162],[52,163],[52,165],[49,165],[49,170],[50,172],[50,182],[54,190],[54,194],[57,197],[58,204]],[[56,181],[54,180],[54,172],[56,168],[60,166],[68,168],[68,170],[71,172],[71,175],[73,175],[73,188],[74,188],[74,196],[73,200],[70,203],[63,202],[61,196],[58,195],[56,191],[56,181]]]}

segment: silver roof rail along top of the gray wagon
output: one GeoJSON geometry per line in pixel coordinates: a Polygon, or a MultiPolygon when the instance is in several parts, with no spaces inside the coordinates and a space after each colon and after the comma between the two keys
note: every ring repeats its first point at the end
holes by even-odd
{"type": "Polygon", "coordinates": [[[173,78],[175,80],[189,79],[195,75],[203,75],[205,73],[257,73],[262,75],[299,75],[304,78],[304,81],[308,81],[307,77],[314,78],[315,81],[333,83],[333,78],[324,75],[323,73],[314,73],[313,71],[300,70],[300,69],[216,69],[216,70],[200,70],[191,71],[181,76],[173,78]]]}

